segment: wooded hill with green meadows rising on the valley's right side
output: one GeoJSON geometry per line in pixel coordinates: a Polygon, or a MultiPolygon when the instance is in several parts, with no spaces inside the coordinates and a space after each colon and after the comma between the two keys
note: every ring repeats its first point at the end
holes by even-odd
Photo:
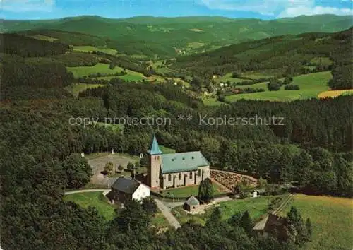
{"type": "MultiPolygon", "coordinates": [[[[329,88],[331,90],[352,88],[353,64],[350,53],[347,53],[352,51],[352,31],[353,28],[335,33],[310,32],[243,42],[203,54],[179,56],[164,66],[167,65],[174,72],[193,76],[191,87],[201,93],[211,92],[207,97],[210,95],[215,97],[215,89],[218,89],[218,97],[235,94],[230,100],[239,100],[243,97],[256,100],[317,97],[318,93],[329,88]],[[329,76],[330,73],[325,74],[324,71],[332,71],[332,77],[329,76]],[[316,76],[313,73],[324,73],[325,77],[311,78],[316,76]],[[292,82],[293,77],[307,74],[310,75],[302,77],[306,83],[292,82]],[[283,87],[282,90],[276,89],[282,93],[263,92],[268,89],[267,83],[270,81],[281,79],[283,82],[285,78],[287,80],[284,84],[292,84],[287,88],[294,88],[294,85],[297,85],[296,88],[302,90],[285,91],[283,87]],[[320,88],[313,91],[313,86],[320,88]],[[242,90],[245,88],[244,93],[242,90]],[[309,92],[303,93],[304,90],[309,92]]],[[[215,104],[214,100],[208,102],[215,104]]]]}

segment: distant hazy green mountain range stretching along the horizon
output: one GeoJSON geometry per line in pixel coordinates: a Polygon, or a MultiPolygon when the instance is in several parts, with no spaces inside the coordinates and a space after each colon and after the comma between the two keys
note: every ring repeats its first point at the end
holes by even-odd
{"type": "MultiPolygon", "coordinates": [[[[107,46],[126,54],[160,57],[193,54],[229,44],[302,32],[337,32],[352,25],[350,16],[306,16],[280,20],[222,17],[155,18],[150,16],[109,19],[80,16],[57,20],[2,20],[1,32],[37,29],[80,32],[110,41],[107,46]],[[192,47],[193,43],[201,44],[192,47]]],[[[55,37],[56,38],[56,37],[55,37]]],[[[87,44],[77,44],[87,45],[87,44]]]]}

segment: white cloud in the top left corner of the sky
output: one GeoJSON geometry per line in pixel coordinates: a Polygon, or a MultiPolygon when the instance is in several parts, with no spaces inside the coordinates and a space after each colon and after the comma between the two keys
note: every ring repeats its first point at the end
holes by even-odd
{"type": "Polygon", "coordinates": [[[52,12],[55,0],[0,0],[2,11],[11,12],[52,12]]]}

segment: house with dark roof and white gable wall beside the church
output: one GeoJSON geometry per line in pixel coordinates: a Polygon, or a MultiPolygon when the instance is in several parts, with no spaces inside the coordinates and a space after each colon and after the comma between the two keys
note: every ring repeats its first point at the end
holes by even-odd
{"type": "Polygon", "coordinates": [[[127,200],[140,201],[150,196],[150,189],[145,184],[128,177],[119,177],[112,185],[112,191],[107,194],[112,203],[124,203],[127,200]]]}

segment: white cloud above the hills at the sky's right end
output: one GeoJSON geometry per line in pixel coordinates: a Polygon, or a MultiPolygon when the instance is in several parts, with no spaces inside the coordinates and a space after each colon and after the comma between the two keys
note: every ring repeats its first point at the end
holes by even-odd
{"type": "Polygon", "coordinates": [[[312,15],[321,15],[321,14],[335,14],[338,16],[353,15],[352,8],[334,8],[334,7],[323,7],[315,6],[313,8],[307,8],[306,6],[298,6],[295,8],[287,8],[285,11],[282,11],[279,18],[293,17],[293,16],[312,16],[312,15]]]}

